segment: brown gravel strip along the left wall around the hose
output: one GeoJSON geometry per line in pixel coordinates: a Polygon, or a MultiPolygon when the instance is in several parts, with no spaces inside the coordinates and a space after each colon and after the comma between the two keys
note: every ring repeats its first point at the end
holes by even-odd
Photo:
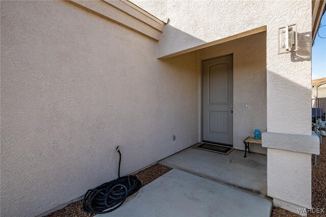
{"type": "MultiPolygon", "coordinates": [[[[134,175],[137,176],[137,178],[142,182],[142,186],[145,186],[146,184],[154,181],[155,179],[169,172],[170,170],[172,170],[172,168],[156,164],[134,175]]],[[[66,216],[91,217],[94,215],[95,213],[84,212],[83,201],[76,201],[68,204],[63,209],[50,213],[47,216],[48,217],[66,217],[66,216]]]]}

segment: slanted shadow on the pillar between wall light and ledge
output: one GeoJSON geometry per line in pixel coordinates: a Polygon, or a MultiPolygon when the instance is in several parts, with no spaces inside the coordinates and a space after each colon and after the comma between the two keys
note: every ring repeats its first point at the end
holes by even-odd
{"type": "Polygon", "coordinates": [[[268,131],[310,134],[311,88],[304,85],[308,73],[298,76],[296,72],[289,71],[288,74],[303,83],[267,70],[268,131]]]}

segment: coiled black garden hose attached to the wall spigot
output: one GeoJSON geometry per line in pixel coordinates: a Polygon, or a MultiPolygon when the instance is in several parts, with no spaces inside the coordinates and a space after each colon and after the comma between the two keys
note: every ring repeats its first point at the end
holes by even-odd
{"type": "Polygon", "coordinates": [[[137,177],[131,175],[120,177],[121,152],[119,146],[116,150],[119,153],[119,178],[89,189],[84,196],[84,211],[97,214],[111,212],[120,207],[128,196],[141,188],[141,182],[137,177]]]}

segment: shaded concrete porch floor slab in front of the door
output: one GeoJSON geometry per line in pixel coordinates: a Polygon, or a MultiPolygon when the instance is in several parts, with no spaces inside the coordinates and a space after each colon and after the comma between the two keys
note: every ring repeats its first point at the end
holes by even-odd
{"type": "Polygon", "coordinates": [[[266,197],[267,156],[233,150],[229,155],[189,147],[159,161],[159,164],[183,170],[213,181],[266,197]]]}

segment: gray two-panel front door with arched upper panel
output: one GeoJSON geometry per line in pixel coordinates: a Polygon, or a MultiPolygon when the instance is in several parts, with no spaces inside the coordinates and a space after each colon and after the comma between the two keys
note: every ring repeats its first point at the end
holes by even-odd
{"type": "Polygon", "coordinates": [[[203,62],[203,140],[233,145],[233,56],[203,62]]]}

